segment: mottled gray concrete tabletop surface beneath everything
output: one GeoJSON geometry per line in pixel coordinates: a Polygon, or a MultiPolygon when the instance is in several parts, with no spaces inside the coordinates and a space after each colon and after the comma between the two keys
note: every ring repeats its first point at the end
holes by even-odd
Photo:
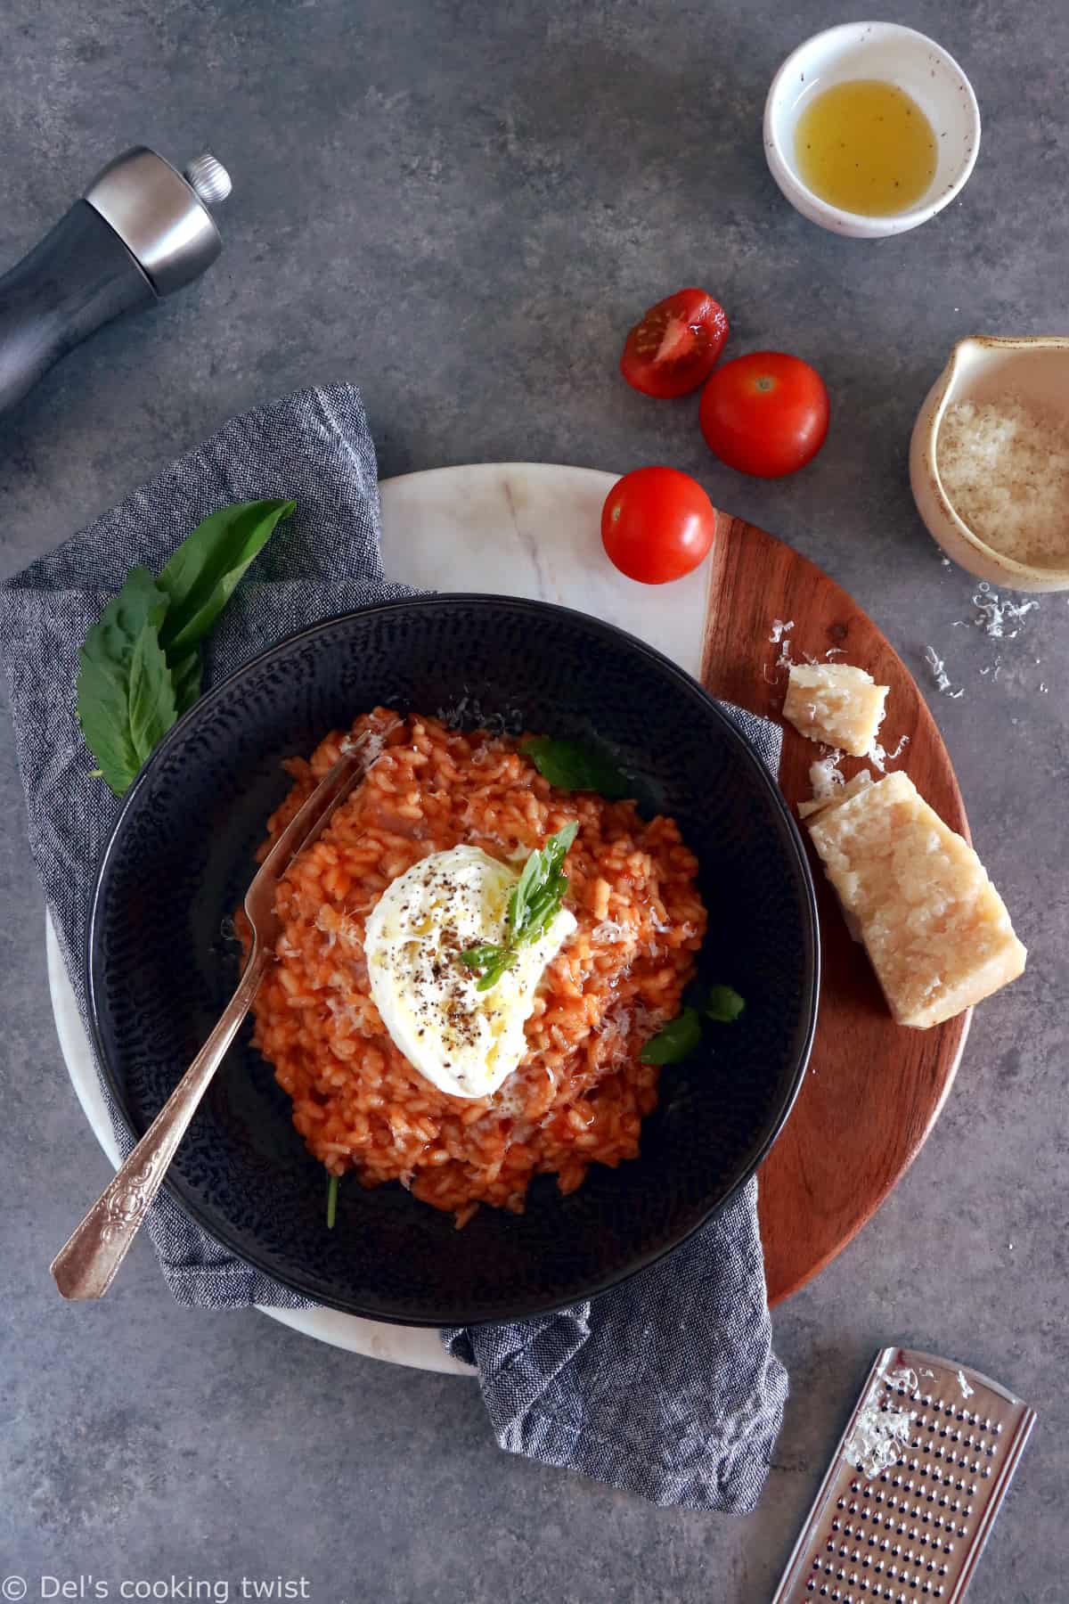
{"type": "MultiPolygon", "coordinates": [[[[383,475],[545,459],[696,472],[721,507],[830,569],[923,672],[979,849],[1032,948],[984,1007],[950,1104],[859,1240],[776,1317],[792,1400],[745,1521],[659,1511],[505,1458],[463,1381],[319,1347],[263,1317],[175,1309],[147,1243],[101,1307],[46,1264],[104,1182],[45,983],[43,911],[0,722],[5,1208],[0,1570],[300,1578],[319,1601],[769,1596],[885,1339],[958,1355],[1040,1412],[976,1604],[1067,1596],[1066,780],[1069,606],[1002,643],[939,566],[906,481],[917,406],[966,332],[1064,332],[1059,0],[894,16],[947,45],[984,115],[960,204],[883,244],[833,239],[774,189],[761,101],[840,11],[813,0],[8,0],[0,261],[95,168],[146,140],[234,175],[226,253],[192,292],[103,334],[0,423],[3,573],[228,414],[362,383],[383,475]],[[833,398],[817,464],[761,484],[704,451],[692,407],[615,379],[631,318],[680,284],[734,350],[811,358],[833,398]],[[981,675],[1002,650],[1002,672],[981,675]],[[1045,685],[1047,691],[1040,690],[1045,685]]],[[[878,1073],[878,1067],[875,1067],[878,1073]]],[[[14,1594],[11,1594],[14,1596],[14,1594]]]]}

